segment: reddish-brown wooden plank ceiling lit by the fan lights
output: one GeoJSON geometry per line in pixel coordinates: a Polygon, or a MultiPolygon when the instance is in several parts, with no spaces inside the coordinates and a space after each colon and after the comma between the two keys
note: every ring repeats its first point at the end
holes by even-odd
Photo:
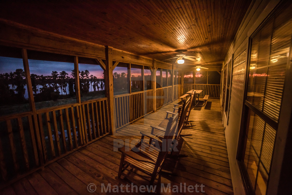
{"type": "Polygon", "coordinates": [[[157,60],[187,49],[185,54],[198,56],[196,64],[208,67],[223,63],[250,2],[4,1],[0,18],[157,60]]]}

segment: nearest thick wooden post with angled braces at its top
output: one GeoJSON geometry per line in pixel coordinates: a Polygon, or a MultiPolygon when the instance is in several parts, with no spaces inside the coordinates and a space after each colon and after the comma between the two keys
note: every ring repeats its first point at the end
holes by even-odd
{"type": "Polygon", "coordinates": [[[105,46],[105,96],[107,97],[109,110],[109,127],[112,135],[116,133],[116,125],[114,118],[114,80],[113,80],[113,65],[112,65],[112,47],[105,46]]]}

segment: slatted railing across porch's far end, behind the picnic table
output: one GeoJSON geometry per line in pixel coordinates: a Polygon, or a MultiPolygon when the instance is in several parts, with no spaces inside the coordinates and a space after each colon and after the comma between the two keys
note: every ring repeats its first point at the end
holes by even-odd
{"type": "Polygon", "coordinates": [[[209,95],[211,98],[220,98],[220,85],[215,84],[184,84],[184,93],[190,90],[203,90],[200,97],[209,95]]]}

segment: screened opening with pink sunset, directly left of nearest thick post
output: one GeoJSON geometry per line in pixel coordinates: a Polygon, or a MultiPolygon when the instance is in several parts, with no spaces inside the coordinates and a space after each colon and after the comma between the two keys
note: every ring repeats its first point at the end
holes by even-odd
{"type": "Polygon", "coordinates": [[[105,97],[103,69],[94,59],[79,58],[78,61],[81,101],[105,97]]]}

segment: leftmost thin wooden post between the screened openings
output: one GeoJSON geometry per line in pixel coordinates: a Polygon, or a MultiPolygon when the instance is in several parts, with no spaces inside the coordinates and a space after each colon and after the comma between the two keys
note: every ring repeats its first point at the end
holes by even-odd
{"type": "Polygon", "coordinates": [[[35,130],[34,133],[36,136],[36,144],[38,147],[39,162],[36,162],[36,165],[42,165],[42,164],[44,164],[43,147],[41,144],[41,135],[39,132],[39,125],[38,125],[38,120],[37,120],[37,116],[36,116],[36,108],[35,108],[35,104],[34,104],[34,95],[33,95],[33,91],[32,91],[32,81],[30,79],[27,50],[22,49],[21,53],[22,53],[23,68],[24,68],[25,77],[26,77],[28,99],[29,99],[29,103],[30,103],[30,109],[33,113],[32,117],[34,120],[34,130],[35,130]]]}

